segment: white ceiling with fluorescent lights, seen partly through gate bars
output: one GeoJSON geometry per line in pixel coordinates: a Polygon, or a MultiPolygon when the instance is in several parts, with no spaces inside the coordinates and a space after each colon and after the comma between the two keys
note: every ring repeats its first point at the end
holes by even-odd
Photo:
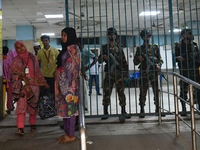
{"type": "MultiPolygon", "coordinates": [[[[167,0],[68,0],[69,26],[77,29],[78,36],[105,35],[114,26],[119,34],[138,35],[143,28],[154,34],[168,34],[170,29],[167,0]],[[159,10],[155,17],[141,17],[143,10],[159,10]],[[82,12],[82,13],[81,13],[82,12]],[[81,14],[83,15],[81,17],[81,14]],[[158,32],[159,31],[159,32],[158,32]]],[[[200,0],[172,0],[173,26],[189,26],[198,29],[200,0]],[[178,11],[183,10],[183,11],[178,11]]],[[[2,0],[3,40],[16,39],[16,26],[32,25],[36,38],[41,33],[60,31],[66,27],[65,0],[2,0]],[[61,19],[46,19],[46,14],[63,14],[61,19]]],[[[172,19],[172,18],[171,18],[172,19]]]]}

